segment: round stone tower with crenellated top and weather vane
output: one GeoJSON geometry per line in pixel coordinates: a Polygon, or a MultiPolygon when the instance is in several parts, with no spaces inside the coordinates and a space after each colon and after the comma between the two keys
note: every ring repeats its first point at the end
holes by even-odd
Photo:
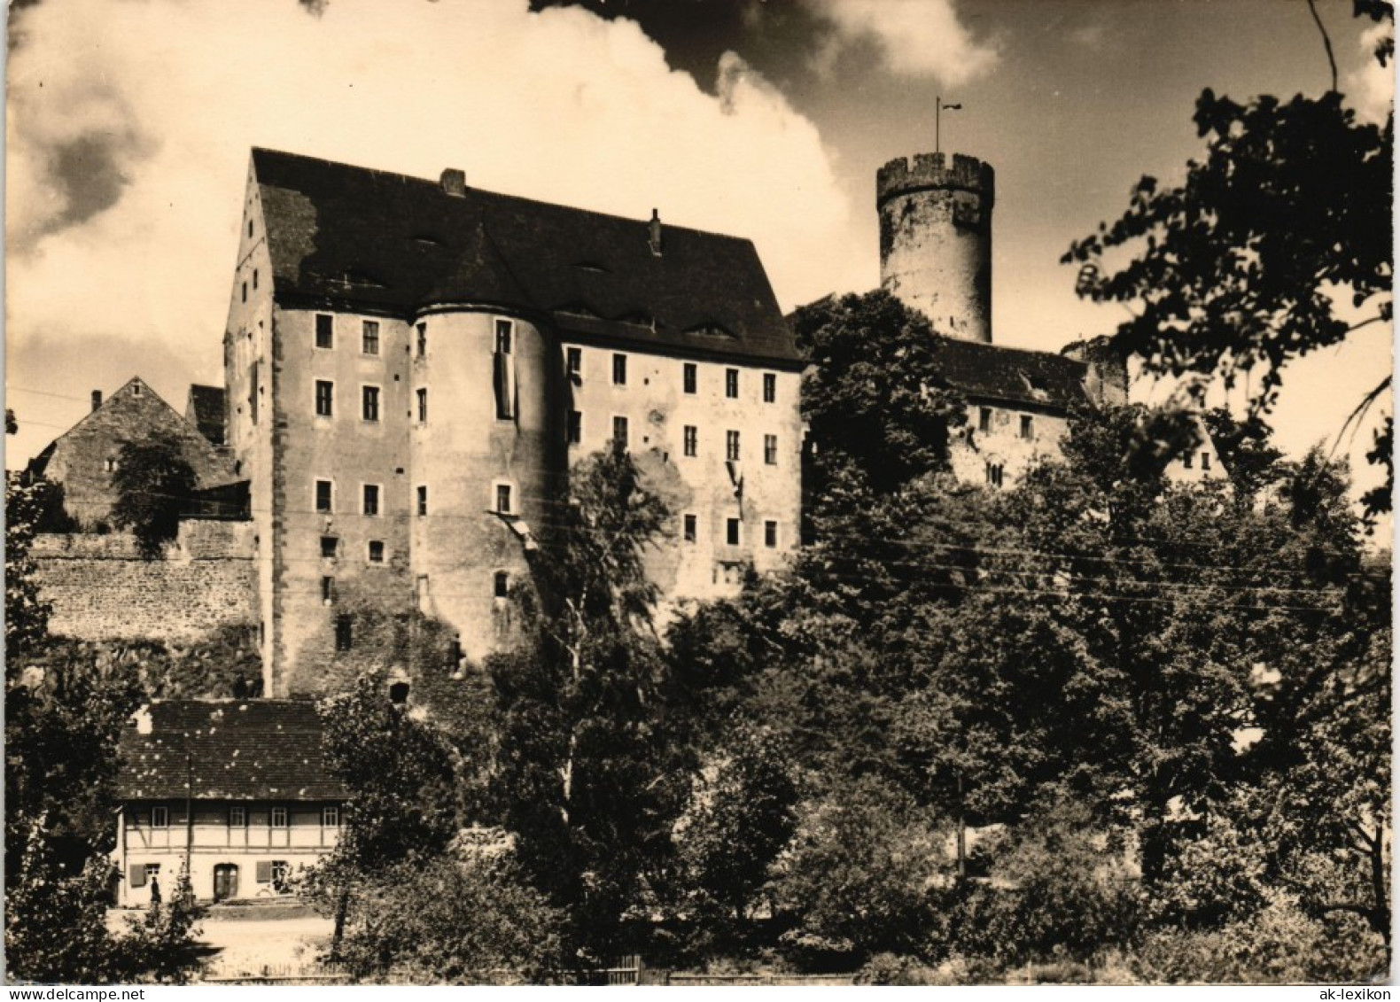
{"type": "Polygon", "coordinates": [[[892,160],[875,181],[881,287],[934,330],[991,341],[990,165],[941,153],[892,160]]]}

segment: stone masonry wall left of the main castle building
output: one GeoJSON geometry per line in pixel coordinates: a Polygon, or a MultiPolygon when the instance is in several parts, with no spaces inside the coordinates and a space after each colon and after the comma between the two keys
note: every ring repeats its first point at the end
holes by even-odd
{"type": "Polygon", "coordinates": [[[141,560],[125,533],[41,535],[32,556],[60,637],[193,641],[258,620],[249,522],[182,522],[161,560],[141,560]]]}

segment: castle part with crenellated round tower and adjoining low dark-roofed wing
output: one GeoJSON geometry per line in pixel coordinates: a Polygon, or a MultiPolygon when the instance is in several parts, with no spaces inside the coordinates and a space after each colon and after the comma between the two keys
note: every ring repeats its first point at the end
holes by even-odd
{"type": "MultiPolygon", "coordinates": [[[[1126,360],[1106,339],[1060,353],[993,344],[991,211],[995,175],[973,157],[899,157],[875,181],[881,285],[928,318],[938,364],[967,400],[967,423],[951,448],[966,483],[1009,487],[1036,462],[1060,453],[1075,407],[1128,400],[1126,360]]],[[[1204,425],[1204,445],[1173,460],[1168,477],[1225,476],[1204,425]]]]}

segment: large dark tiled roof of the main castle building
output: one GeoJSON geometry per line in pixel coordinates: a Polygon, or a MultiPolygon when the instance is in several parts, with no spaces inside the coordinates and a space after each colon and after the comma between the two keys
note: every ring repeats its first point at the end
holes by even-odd
{"type": "Polygon", "coordinates": [[[412,316],[477,302],[638,348],[798,364],[753,244],[253,150],[281,302],[412,316]],[[574,325],[578,316],[588,323],[574,325]],[[718,333],[715,333],[718,332],[718,333]]]}

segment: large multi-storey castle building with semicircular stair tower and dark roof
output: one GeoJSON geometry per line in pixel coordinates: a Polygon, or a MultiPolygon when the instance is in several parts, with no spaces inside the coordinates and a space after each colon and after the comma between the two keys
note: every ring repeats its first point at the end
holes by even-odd
{"type": "Polygon", "coordinates": [[[673,512],[665,600],[778,567],[801,368],[748,241],[255,150],[224,372],[265,690],[314,689],[354,602],[416,603],[472,659],[510,644],[526,553],[603,448],[673,512]]]}

